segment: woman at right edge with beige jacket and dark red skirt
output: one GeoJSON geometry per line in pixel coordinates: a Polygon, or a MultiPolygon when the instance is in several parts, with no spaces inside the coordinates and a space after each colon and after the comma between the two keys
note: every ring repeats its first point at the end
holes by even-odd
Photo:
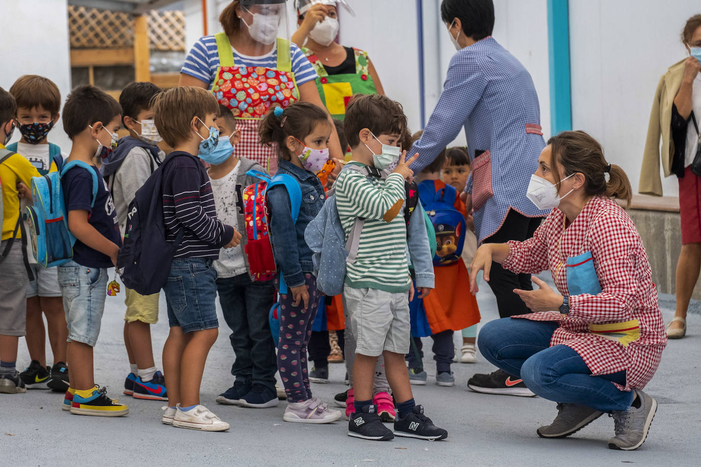
{"type": "Polygon", "coordinates": [[[686,334],[686,309],[701,267],[701,178],[692,169],[697,154],[701,157],[701,15],[686,21],[681,40],[689,56],[660,78],[638,188],[644,195],[662,196],[660,160],[665,176],[679,178],[681,253],[676,264],[676,314],[667,328],[671,339],[686,334]]]}

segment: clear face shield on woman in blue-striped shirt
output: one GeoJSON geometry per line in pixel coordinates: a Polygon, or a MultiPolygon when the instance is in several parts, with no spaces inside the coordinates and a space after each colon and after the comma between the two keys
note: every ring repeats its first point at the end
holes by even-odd
{"type": "Polygon", "coordinates": [[[254,53],[270,53],[279,39],[290,41],[285,0],[241,0],[236,10],[240,20],[240,34],[250,37],[254,53]]]}

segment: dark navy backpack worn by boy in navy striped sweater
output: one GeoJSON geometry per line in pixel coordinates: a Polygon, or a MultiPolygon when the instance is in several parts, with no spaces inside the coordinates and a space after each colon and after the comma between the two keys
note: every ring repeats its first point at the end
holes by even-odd
{"type": "Polygon", "coordinates": [[[161,291],[184,235],[181,229],[175,241],[168,242],[163,222],[163,170],[179,157],[190,156],[175,154],[165,158],[137,190],[127,211],[124,242],[117,255],[117,273],[125,286],[141,295],[161,291]]]}

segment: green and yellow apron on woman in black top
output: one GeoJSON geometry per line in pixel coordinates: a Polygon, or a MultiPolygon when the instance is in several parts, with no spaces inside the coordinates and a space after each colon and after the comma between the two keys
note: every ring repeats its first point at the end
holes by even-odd
{"type": "Polygon", "coordinates": [[[355,52],[355,74],[329,75],[324,65],[311,50],[302,48],[302,52],[311,62],[318,74],[316,87],[319,96],[333,118],[346,118],[346,106],[354,94],[375,94],[377,89],[370,76],[367,52],[353,49],[355,52]]]}

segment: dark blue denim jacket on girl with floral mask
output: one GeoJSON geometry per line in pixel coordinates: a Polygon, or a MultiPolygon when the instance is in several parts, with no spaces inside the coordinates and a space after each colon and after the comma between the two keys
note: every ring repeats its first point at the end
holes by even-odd
{"type": "Polygon", "coordinates": [[[304,284],[304,273],[313,272],[312,251],[304,240],[307,224],[321,210],[326,195],[324,187],[312,172],[301,169],[287,160],[278,161],[276,174],[294,176],[302,192],[297,224],[292,221],[290,197],[284,186],[274,186],[268,191],[268,212],[270,214],[270,238],[273,244],[275,263],[285,277],[287,286],[304,284]]]}

